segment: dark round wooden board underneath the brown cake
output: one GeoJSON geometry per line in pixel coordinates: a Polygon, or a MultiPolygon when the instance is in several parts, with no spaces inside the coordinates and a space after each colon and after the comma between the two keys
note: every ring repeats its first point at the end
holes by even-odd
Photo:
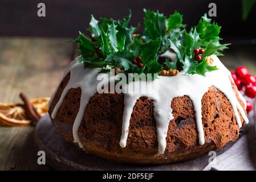
{"type": "MultiPolygon", "coordinates": [[[[46,153],[46,163],[58,170],[202,170],[208,164],[210,156],[205,154],[200,158],[182,163],[164,165],[131,165],[117,164],[86,154],[72,143],[67,142],[62,134],[52,125],[46,114],[35,127],[35,143],[38,150],[46,153]]],[[[233,143],[217,151],[221,154],[233,143]]]]}

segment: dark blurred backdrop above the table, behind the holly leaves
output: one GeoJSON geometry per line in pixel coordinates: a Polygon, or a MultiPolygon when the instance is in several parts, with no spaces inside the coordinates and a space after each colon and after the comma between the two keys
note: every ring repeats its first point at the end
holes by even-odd
{"type": "MultiPolygon", "coordinates": [[[[242,20],[243,0],[128,0],[128,1],[82,1],[82,0],[1,0],[1,36],[51,36],[75,37],[78,31],[86,32],[91,14],[100,17],[123,18],[132,10],[131,24],[143,24],[143,8],[159,10],[166,16],[175,10],[183,14],[188,28],[197,24],[200,17],[208,12],[208,5],[217,5],[217,17],[213,18],[222,26],[221,37],[232,43],[255,43],[256,6],[245,21],[242,20]],[[46,17],[37,16],[37,5],[46,5],[46,17]]],[[[253,1],[253,0],[251,0],[253,1]]],[[[226,42],[225,41],[225,42],[226,42]]]]}

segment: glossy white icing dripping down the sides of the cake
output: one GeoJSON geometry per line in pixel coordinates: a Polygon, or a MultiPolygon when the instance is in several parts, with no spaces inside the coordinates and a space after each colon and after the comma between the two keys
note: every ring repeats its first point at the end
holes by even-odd
{"type": "MultiPolygon", "coordinates": [[[[169,55],[171,56],[171,55],[169,55]]],[[[205,77],[200,75],[188,75],[184,72],[180,72],[177,76],[159,76],[159,79],[152,81],[150,84],[155,84],[157,86],[151,87],[152,89],[147,90],[146,92],[129,92],[124,93],[124,113],[123,113],[123,126],[122,126],[122,135],[120,139],[120,146],[125,147],[128,137],[129,129],[129,120],[133,111],[133,106],[136,104],[137,99],[142,96],[147,96],[153,99],[153,110],[154,117],[156,119],[157,126],[157,139],[159,142],[159,153],[164,154],[166,147],[166,136],[169,126],[169,121],[173,119],[172,109],[170,107],[173,98],[189,96],[193,102],[194,111],[196,115],[196,126],[198,130],[198,139],[200,144],[205,143],[204,139],[204,129],[202,126],[202,105],[201,100],[204,94],[208,91],[210,86],[215,86],[217,89],[221,90],[225,94],[227,99],[230,101],[231,106],[233,107],[235,118],[239,127],[242,126],[241,118],[239,113],[241,113],[245,123],[248,123],[245,111],[242,106],[239,104],[235,93],[231,87],[230,72],[226,67],[221,63],[217,56],[212,56],[214,64],[219,68],[217,71],[206,73],[205,77]],[[239,110],[239,113],[238,113],[239,110]]],[[[59,107],[62,105],[63,99],[66,96],[70,88],[81,88],[82,96],[80,100],[80,108],[78,115],[76,116],[74,126],[73,126],[73,135],[74,142],[78,142],[80,147],[83,147],[82,143],[78,137],[78,128],[82,121],[84,110],[88,101],[94,94],[97,92],[97,69],[84,69],[83,64],[73,61],[71,65],[67,68],[64,75],[68,72],[71,73],[70,81],[66,88],[64,88],[60,100],[56,104],[54,111],[52,112],[51,117],[55,118],[59,110],[59,107]]],[[[108,79],[107,79],[108,80],[108,79]]],[[[143,85],[145,81],[137,81],[134,84],[143,85]]],[[[105,82],[104,85],[108,84],[105,82]]],[[[123,86],[123,89],[129,89],[132,84],[123,86]]],[[[54,96],[54,95],[53,95],[54,96]]],[[[52,97],[53,97],[52,96],[52,97]]],[[[245,102],[245,99],[240,95],[241,100],[245,102]]]]}

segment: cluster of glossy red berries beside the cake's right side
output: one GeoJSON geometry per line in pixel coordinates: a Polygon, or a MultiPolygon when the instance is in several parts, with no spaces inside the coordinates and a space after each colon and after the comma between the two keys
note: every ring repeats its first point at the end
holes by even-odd
{"type": "MultiPolygon", "coordinates": [[[[256,96],[256,77],[249,74],[247,68],[238,67],[235,72],[231,72],[231,76],[237,85],[238,90],[243,90],[245,95],[249,98],[256,96]]],[[[253,109],[251,102],[247,101],[246,110],[249,112],[253,109]]]]}

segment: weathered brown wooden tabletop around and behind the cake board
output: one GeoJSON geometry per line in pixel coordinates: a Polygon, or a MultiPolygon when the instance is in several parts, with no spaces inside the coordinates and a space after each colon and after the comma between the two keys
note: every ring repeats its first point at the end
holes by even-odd
{"type": "MultiPolygon", "coordinates": [[[[64,68],[74,57],[68,39],[0,38],[0,102],[51,96],[64,68]]],[[[256,75],[256,49],[233,47],[222,58],[230,69],[245,65],[256,75]]],[[[37,164],[34,127],[0,127],[0,170],[52,170],[37,164]]]]}

